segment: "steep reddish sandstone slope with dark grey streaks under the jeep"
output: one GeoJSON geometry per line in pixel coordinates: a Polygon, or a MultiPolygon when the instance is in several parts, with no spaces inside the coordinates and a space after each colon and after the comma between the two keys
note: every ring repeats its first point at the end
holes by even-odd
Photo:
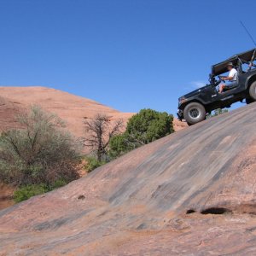
{"type": "Polygon", "coordinates": [[[256,103],[0,212],[3,255],[255,255],[256,103]]]}

